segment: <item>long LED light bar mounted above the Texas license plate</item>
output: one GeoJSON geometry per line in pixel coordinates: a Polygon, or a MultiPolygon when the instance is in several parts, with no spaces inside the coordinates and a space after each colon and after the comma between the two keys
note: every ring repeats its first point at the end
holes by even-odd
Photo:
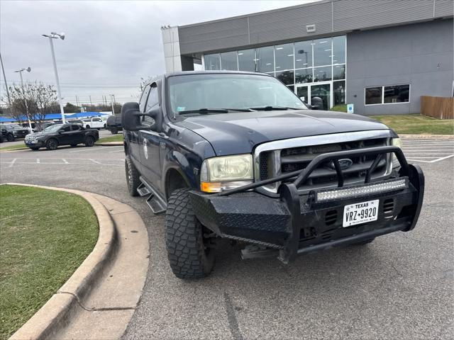
{"type": "Polygon", "coordinates": [[[360,196],[375,195],[377,193],[388,193],[408,188],[408,177],[391,179],[380,183],[368,183],[363,186],[353,186],[350,188],[338,188],[328,191],[318,191],[315,195],[315,202],[329,202],[331,200],[342,200],[345,198],[355,198],[360,196]]]}

